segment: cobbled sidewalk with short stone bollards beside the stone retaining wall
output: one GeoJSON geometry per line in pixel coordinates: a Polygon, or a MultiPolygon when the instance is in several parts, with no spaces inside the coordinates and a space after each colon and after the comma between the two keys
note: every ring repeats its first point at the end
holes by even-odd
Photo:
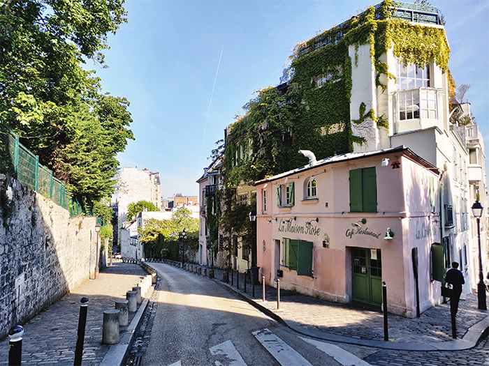
{"type": "MultiPolygon", "coordinates": [[[[22,365],[73,365],[80,299],[84,296],[89,298],[89,304],[82,365],[101,365],[111,349],[118,348],[120,353],[122,342],[112,346],[101,343],[103,312],[114,309],[115,300],[125,300],[126,292],[145,275],[147,272],[138,264],[114,263],[99,273],[96,280],[85,282],[24,324],[22,365]]],[[[121,340],[124,333],[136,327],[149,296],[151,289],[138,312],[129,313],[129,326],[121,327],[121,340]]],[[[8,337],[0,342],[0,365],[8,365],[8,342],[8,337]]]]}

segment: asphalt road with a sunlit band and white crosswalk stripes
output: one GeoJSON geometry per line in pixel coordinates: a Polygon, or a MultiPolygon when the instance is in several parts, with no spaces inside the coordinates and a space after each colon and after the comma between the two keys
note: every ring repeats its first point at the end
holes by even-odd
{"type": "Polygon", "coordinates": [[[328,352],[340,360],[351,356],[326,343],[327,351],[321,350],[323,342],[303,340],[214,281],[166,264],[152,266],[161,282],[145,366],[334,366],[342,363],[328,352]]]}

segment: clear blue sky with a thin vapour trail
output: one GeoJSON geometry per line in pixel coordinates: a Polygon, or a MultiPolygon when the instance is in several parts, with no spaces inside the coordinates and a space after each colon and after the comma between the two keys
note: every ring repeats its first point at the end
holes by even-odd
{"type": "MultiPolygon", "coordinates": [[[[108,37],[109,68],[87,64],[104,92],[131,102],[136,141],[118,155],[121,167],[159,171],[163,197],[197,195],[214,143],[255,90],[279,84],[294,45],[380,2],[126,0],[129,22],[108,37]]],[[[445,17],[448,66],[456,84],[471,85],[488,144],[489,1],[430,3],[445,17]]]]}

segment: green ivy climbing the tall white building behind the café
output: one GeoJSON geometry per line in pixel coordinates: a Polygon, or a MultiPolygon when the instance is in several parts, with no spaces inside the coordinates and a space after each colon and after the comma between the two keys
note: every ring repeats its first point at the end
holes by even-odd
{"type": "MultiPolygon", "coordinates": [[[[424,67],[434,62],[454,89],[444,29],[395,19],[394,7],[395,1],[383,1],[295,47],[293,77],[288,84],[258,91],[245,105],[245,116],[228,129],[223,151],[226,188],[252,184],[307,164],[299,149],[312,151],[317,160],[353,151],[353,144],[365,139],[353,135],[352,123],[368,119],[377,128],[388,128],[386,117],[376,116],[374,109],[367,112],[364,102],[359,106],[359,119],[351,119],[352,64],[358,65],[360,45],[370,45],[380,92],[386,90],[384,80],[395,79],[395,73],[382,61],[388,49],[405,64],[424,67]],[[351,45],[355,48],[353,60],[351,45]]],[[[219,222],[224,222],[227,210],[220,215],[219,222]]]]}

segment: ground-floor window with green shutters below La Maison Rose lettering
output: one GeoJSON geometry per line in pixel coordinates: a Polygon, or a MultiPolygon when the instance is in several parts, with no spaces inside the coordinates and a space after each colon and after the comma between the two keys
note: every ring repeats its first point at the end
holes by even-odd
{"type": "Polygon", "coordinates": [[[295,239],[282,239],[282,266],[297,270],[300,276],[313,277],[312,252],[313,243],[295,239]]]}

